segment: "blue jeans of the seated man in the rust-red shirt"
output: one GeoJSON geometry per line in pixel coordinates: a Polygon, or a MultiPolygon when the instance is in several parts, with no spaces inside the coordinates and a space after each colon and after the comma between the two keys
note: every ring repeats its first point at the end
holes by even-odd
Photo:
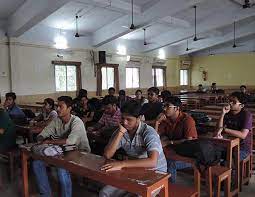
{"type": "Polygon", "coordinates": [[[181,169],[189,168],[189,167],[191,167],[190,163],[168,159],[167,160],[167,172],[171,174],[170,182],[171,183],[176,182],[177,170],[181,170],[181,169]]]}

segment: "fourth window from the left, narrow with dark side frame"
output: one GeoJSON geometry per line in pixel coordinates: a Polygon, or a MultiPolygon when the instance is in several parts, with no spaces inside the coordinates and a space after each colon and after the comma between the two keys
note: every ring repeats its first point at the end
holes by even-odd
{"type": "Polygon", "coordinates": [[[153,86],[163,87],[166,82],[166,68],[163,66],[153,66],[152,67],[152,81],[153,86]]]}

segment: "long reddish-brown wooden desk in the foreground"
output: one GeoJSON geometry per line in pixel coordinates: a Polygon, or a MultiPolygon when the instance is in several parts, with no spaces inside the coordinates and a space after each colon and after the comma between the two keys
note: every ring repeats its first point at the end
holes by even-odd
{"type": "Polygon", "coordinates": [[[160,195],[168,197],[168,178],[170,175],[165,172],[145,168],[128,168],[115,172],[105,172],[100,170],[100,167],[106,163],[104,157],[79,151],[69,152],[61,157],[42,157],[32,154],[23,147],[21,156],[24,197],[29,196],[28,159],[30,157],[141,196],[149,197],[153,191],[162,188],[160,195]]]}

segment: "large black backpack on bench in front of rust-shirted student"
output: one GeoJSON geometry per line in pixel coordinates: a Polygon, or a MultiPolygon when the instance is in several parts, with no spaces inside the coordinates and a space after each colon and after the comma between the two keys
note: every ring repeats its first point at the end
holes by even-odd
{"type": "Polygon", "coordinates": [[[173,145],[172,148],[179,155],[194,158],[196,167],[200,172],[201,166],[205,171],[210,166],[217,165],[221,159],[226,158],[226,151],[208,139],[187,140],[181,144],[173,145]]]}

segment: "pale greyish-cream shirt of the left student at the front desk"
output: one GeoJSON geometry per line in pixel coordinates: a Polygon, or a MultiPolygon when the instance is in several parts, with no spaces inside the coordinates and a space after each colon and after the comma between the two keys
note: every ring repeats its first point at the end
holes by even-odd
{"type": "Polygon", "coordinates": [[[66,138],[66,144],[75,144],[79,150],[90,152],[84,124],[79,117],[74,115],[71,115],[70,120],[66,124],[64,124],[59,117],[53,119],[38,136],[42,136],[44,139],[50,138],[52,140],[66,138]]]}

